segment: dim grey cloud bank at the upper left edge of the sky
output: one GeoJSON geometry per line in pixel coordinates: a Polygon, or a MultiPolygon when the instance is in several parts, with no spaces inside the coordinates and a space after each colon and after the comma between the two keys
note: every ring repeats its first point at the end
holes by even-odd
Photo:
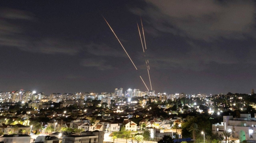
{"type": "Polygon", "coordinates": [[[61,37],[29,35],[36,26],[33,14],[15,9],[0,10],[0,46],[19,48],[29,52],[76,55],[81,50],[80,42],[61,37]]]}

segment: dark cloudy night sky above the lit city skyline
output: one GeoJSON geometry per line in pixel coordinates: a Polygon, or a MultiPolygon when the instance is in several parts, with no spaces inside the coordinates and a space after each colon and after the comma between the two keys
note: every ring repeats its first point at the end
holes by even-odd
{"type": "Polygon", "coordinates": [[[1,1],[0,91],[147,90],[141,17],[156,93],[250,93],[255,12],[247,0],[1,1]]]}

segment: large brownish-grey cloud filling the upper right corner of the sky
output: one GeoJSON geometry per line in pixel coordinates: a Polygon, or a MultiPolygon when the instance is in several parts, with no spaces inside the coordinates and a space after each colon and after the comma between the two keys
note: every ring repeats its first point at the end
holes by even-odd
{"type": "Polygon", "coordinates": [[[249,0],[146,0],[144,9],[134,14],[149,17],[161,32],[212,41],[220,37],[240,39],[254,34],[255,3],[249,0]]]}

